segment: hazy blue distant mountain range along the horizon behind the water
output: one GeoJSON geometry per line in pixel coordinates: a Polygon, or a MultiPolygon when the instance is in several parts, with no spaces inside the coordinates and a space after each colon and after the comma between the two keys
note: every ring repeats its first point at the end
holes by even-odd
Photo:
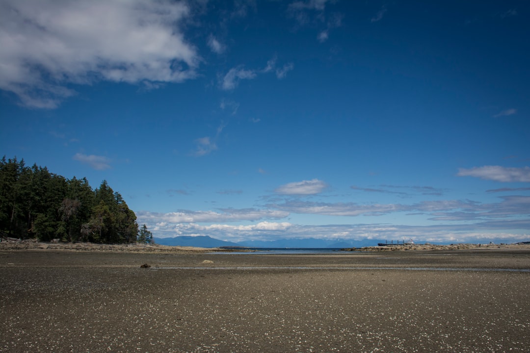
{"type": "Polygon", "coordinates": [[[346,239],[278,239],[278,240],[247,240],[241,242],[230,242],[211,238],[208,236],[181,236],[174,238],[154,238],[155,243],[169,246],[189,246],[200,248],[218,248],[218,247],[247,247],[247,248],[359,248],[365,246],[375,246],[378,242],[384,240],[363,239],[363,240],[346,240],[346,239]]]}

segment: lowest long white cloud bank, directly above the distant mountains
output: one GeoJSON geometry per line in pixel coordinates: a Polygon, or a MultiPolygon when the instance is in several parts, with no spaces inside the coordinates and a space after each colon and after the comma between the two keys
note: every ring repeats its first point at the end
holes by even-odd
{"type": "MultiPolygon", "coordinates": [[[[140,219],[140,217],[139,217],[140,219]]],[[[413,239],[416,242],[488,242],[491,239],[504,239],[503,242],[530,240],[530,234],[514,232],[518,229],[528,229],[528,220],[514,223],[482,222],[474,224],[437,224],[437,225],[393,225],[393,224],[324,224],[299,225],[288,222],[259,222],[251,225],[197,223],[153,223],[148,224],[155,237],[166,238],[175,236],[208,235],[210,237],[228,240],[277,240],[277,239],[413,239]],[[500,230],[500,231],[499,231],[500,230]],[[511,232],[510,232],[511,230],[511,232]]],[[[375,245],[375,244],[373,244],[375,245]]]]}

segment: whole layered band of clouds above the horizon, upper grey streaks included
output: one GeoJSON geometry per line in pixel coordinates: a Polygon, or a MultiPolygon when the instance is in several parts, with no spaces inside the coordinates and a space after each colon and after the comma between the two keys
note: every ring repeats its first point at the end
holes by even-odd
{"type": "MultiPolygon", "coordinates": [[[[524,232],[530,227],[530,196],[504,196],[500,202],[441,200],[416,204],[373,204],[286,202],[267,205],[268,209],[224,209],[219,211],[178,211],[171,213],[137,212],[138,222],[148,224],[156,237],[208,235],[222,240],[276,239],[403,239],[429,242],[503,242],[530,240],[524,232]],[[430,225],[370,224],[300,225],[273,222],[293,213],[322,215],[360,215],[420,211],[431,215],[430,225]],[[254,224],[226,224],[231,222],[254,224]],[[442,223],[442,221],[445,221],[442,223]],[[200,224],[207,223],[207,224],[200,224]]],[[[392,216],[393,217],[393,216],[392,216]]]]}

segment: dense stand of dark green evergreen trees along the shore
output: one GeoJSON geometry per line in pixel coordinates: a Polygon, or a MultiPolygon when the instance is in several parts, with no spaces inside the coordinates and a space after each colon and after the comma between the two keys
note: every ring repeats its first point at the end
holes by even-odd
{"type": "Polygon", "coordinates": [[[144,224],[106,180],[67,179],[16,157],[0,161],[0,231],[13,238],[76,242],[152,242],[144,224]]]}

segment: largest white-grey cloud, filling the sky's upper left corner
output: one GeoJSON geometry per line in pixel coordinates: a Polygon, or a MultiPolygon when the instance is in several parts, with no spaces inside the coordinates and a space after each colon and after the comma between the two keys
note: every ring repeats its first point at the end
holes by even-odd
{"type": "Polygon", "coordinates": [[[200,58],[178,27],[187,16],[185,2],[169,0],[4,0],[0,88],[54,108],[75,94],[68,84],[193,78],[200,58]]]}

